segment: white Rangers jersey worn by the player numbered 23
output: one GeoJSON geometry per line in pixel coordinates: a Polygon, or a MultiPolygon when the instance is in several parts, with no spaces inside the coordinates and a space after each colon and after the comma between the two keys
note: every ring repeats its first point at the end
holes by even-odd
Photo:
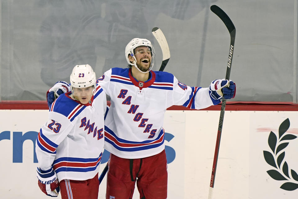
{"type": "Polygon", "coordinates": [[[49,108],[49,120],[36,140],[38,165],[54,168],[59,181],[87,180],[99,170],[104,145],[106,94],[97,85],[91,104],[60,95],[49,108]]]}

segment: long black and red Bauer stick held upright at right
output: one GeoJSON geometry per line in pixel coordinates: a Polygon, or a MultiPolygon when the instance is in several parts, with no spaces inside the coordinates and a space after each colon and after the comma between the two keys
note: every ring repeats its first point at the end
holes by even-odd
{"type": "MultiPolygon", "coordinates": [[[[228,31],[230,33],[231,43],[230,43],[229,58],[228,58],[227,73],[226,73],[226,79],[229,80],[231,66],[232,66],[236,29],[235,29],[235,26],[234,26],[233,22],[231,21],[231,19],[228,17],[228,15],[222,9],[220,9],[216,5],[212,5],[210,7],[210,9],[224,22],[224,25],[226,25],[226,27],[228,28],[228,31]]],[[[218,131],[217,131],[217,139],[216,139],[216,145],[215,145],[215,152],[214,152],[214,159],[213,159],[208,199],[211,199],[212,194],[213,194],[214,180],[215,180],[215,173],[216,173],[216,166],[217,166],[217,159],[218,159],[218,152],[219,152],[219,144],[220,144],[221,131],[222,131],[223,122],[224,122],[225,108],[226,108],[226,99],[223,98],[222,104],[221,104],[221,110],[220,110],[219,125],[218,125],[218,131]]]]}

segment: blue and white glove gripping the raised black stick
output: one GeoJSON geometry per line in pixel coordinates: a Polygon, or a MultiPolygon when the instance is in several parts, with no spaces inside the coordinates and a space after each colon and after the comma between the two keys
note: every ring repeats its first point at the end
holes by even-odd
{"type": "Polygon", "coordinates": [[[209,94],[213,99],[231,99],[235,97],[236,84],[231,80],[214,80],[209,86],[209,94]]]}

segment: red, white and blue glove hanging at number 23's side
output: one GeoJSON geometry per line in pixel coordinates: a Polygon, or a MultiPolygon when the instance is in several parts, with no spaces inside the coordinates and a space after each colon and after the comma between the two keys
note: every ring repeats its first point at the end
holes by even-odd
{"type": "Polygon", "coordinates": [[[57,175],[53,168],[43,171],[37,167],[36,174],[38,178],[38,187],[40,190],[47,196],[57,197],[60,187],[57,175]]]}

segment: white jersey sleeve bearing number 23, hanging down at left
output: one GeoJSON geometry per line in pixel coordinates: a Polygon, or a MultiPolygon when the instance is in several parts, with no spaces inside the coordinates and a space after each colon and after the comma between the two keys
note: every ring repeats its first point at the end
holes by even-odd
{"type": "Polygon", "coordinates": [[[49,120],[41,127],[36,139],[35,151],[40,169],[51,169],[56,156],[56,148],[72,128],[70,120],[64,115],[49,112],[49,120]]]}

